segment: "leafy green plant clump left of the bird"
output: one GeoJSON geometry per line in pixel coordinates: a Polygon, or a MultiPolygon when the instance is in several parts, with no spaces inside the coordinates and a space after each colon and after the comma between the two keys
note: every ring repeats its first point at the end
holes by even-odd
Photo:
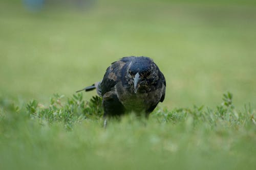
{"type": "Polygon", "coordinates": [[[44,106],[32,100],[27,104],[27,112],[31,118],[37,118],[43,124],[45,122],[63,122],[67,129],[71,129],[74,123],[79,123],[89,117],[99,119],[103,114],[101,98],[94,96],[89,102],[83,100],[82,93],[74,94],[63,102],[63,95],[54,94],[50,99],[50,105],[44,106]],[[46,121],[45,121],[46,120],[46,121]]]}

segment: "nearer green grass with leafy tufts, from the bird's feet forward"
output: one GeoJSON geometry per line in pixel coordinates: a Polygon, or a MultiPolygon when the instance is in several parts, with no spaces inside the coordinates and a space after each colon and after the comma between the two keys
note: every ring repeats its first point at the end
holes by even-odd
{"type": "Polygon", "coordinates": [[[100,98],[26,108],[1,101],[1,169],[253,169],[256,112],[237,110],[232,94],[216,108],[156,109],[102,127],[100,98]]]}

